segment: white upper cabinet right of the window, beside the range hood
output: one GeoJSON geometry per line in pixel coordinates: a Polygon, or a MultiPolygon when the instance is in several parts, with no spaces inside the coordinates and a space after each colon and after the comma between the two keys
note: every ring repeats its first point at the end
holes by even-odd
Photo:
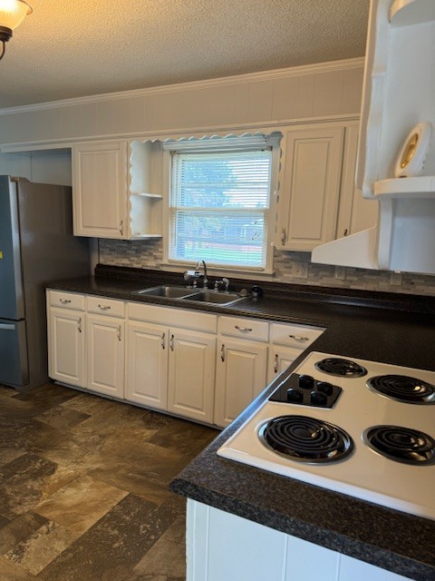
{"type": "Polygon", "coordinates": [[[376,225],[377,202],[354,185],[358,132],[355,120],[285,133],[276,248],[312,251],[376,225]]]}

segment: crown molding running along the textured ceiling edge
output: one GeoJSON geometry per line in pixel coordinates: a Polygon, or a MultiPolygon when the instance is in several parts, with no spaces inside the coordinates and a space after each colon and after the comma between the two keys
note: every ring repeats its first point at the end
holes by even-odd
{"type": "Polygon", "coordinates": [[[284,69],[273,69],[260,73],[236,74],[233,76],[218,77],[205,81],[191,81],[189,83],[165,84],[146,89],[134,89],[132,91],[120,91],[117,93],[94,94],[85,97],[74,97],[72,99],[62,99],[60,101],[50,101],[48,103],[34,103],[29,105],[19,105],[16,107],[5,107],[0,109],[0,115],[11,115],[16,113],[29,113],[33,111],[43,111],[46,109],[57,109],[59,107],[71,107],[90,103],[102,103],[104,101],[121,101],[138,97],[147,97],[158,94],[179,93],[194,91],[198,89],[209,89],[228,84],[258,83],[260,81],[270,81],[292,76],[304,76],[306,74],[331,73],[333,71],[343,71],[346,69],[359,68],[364,66],[364,58],[350,58],[341,61],[330,61],[327,63],[304,64],[292,66],[284,69]]]}

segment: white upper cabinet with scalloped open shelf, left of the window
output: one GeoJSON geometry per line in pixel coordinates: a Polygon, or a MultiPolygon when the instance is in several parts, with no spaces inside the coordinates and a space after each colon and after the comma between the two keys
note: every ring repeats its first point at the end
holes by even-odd
{"type": "Polygon", "coordinates": [[[163,159],[160,142],[73,145],[74,234],[160,238],[163,159]]]}

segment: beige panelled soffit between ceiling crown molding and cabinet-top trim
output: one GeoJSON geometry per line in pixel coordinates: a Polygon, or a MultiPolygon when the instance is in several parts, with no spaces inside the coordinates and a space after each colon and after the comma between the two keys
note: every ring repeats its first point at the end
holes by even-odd
{"type": "Polygon", "coordinates": [[[0,110],[0,143],[193,133],[359,113],[362,59],[0,110]]]}

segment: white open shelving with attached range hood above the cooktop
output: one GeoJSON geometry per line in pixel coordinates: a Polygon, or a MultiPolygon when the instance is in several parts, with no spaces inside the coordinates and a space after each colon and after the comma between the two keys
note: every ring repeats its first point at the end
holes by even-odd
{"type": "Polygon", "coordinates": [[[318,246],[313,262],[435,274],[434,95],[435,1],[372,0],[356,187],[379,203],[378,223],[318,246]],[[424,155],[423,140],[404,146],[421,124],[424,155]],[[406,158],[410,176],[395,177],[406,158]]]}

